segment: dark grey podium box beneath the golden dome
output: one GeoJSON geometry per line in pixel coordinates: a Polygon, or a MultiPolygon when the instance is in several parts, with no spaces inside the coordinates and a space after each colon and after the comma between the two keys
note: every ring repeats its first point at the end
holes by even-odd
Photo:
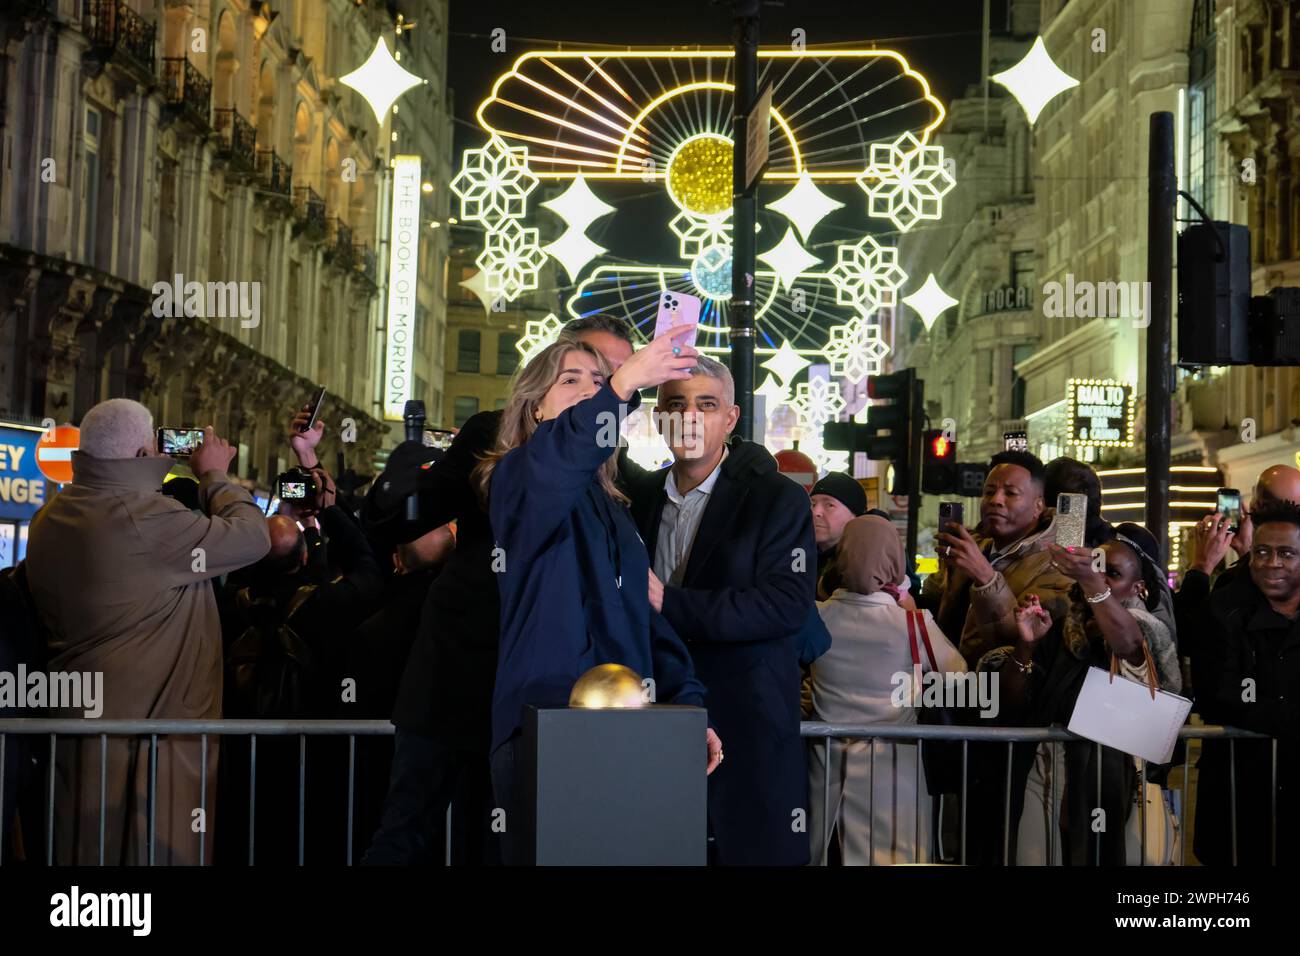
{"type": "Polygon", "coordinates": [[[526,708],[526,862],[703,866],[707,727],[702,708],[526,708]]]}

